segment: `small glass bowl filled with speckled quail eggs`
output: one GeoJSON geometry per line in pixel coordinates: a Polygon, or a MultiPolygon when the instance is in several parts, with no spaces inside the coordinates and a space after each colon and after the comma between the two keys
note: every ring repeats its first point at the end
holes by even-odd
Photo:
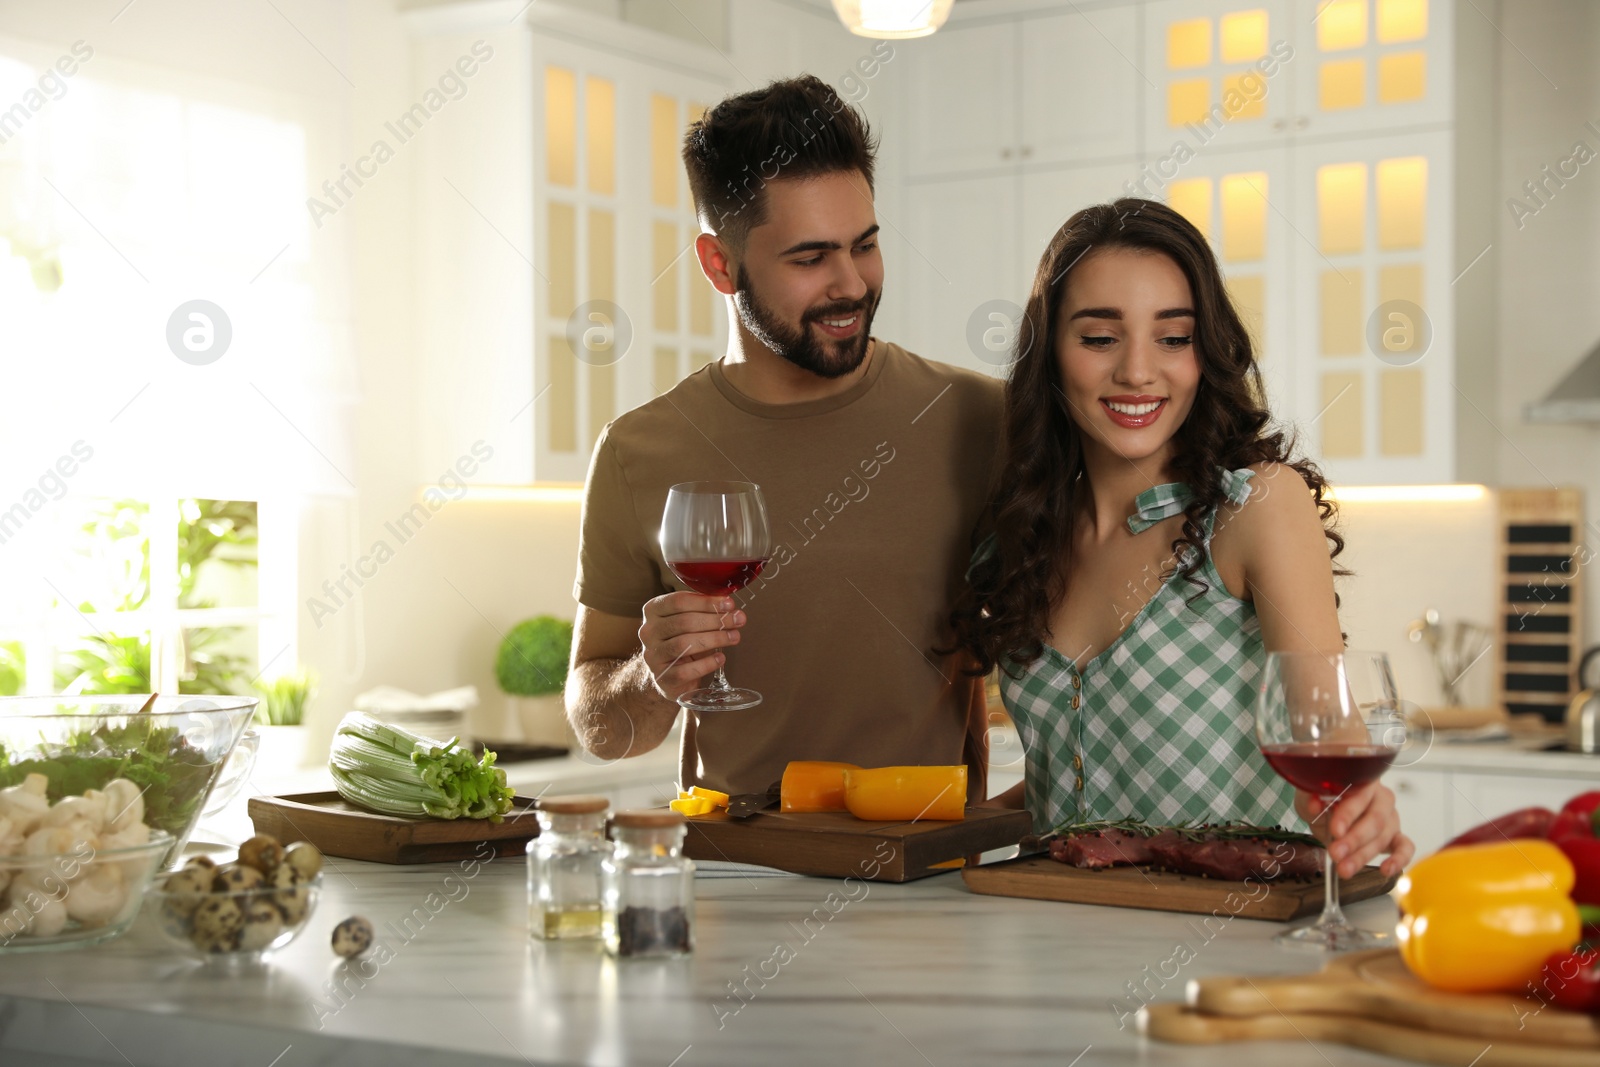
{"type": "Polygon", "coordinates": [[[258,833],[238,857],[190,856],[146,894],[166,941],[206,963],[259,963],[294,941],[322,893],[322,853],[258,833]]]}

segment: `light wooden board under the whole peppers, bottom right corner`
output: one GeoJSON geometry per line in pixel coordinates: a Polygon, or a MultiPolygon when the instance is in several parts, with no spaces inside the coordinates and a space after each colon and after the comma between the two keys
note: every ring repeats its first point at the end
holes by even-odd
{"type": "Polygon", "coordinates": [[[1600,1062],[1594,1017],[1542,1006],[1531,993],[1430,989],[1394,949],[1336,957],[1318,974],[1198,979],[1187,1005],[1149,1005],[1139,1025],[1186,1045],[1306,1038],[1456,1067],[1600,1062]]]}

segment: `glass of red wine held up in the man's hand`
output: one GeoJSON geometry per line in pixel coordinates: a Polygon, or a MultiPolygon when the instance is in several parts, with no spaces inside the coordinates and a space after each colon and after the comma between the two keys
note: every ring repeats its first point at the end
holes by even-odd
{"type": "MultiPolygon", "coordinates": [[[[678,581],[707,597],[744,589],[771,558],[766,501],[752,482],[680,482],[667,490],[661,515],[661,555],[678,581]]],[[[755,689],[736,689],[717,667],[710,685],[678,704],[693,712],[741,712],[762,702],[755,689]]]]}

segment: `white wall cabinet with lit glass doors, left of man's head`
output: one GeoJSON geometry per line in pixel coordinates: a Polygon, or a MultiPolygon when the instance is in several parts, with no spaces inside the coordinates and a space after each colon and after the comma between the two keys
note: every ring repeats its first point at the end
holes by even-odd
{"type": "Polygon", "coordinates": [[[728,67],[562,5],[530,6],[531,26],[480,14],[440,19],[459,34],[413,21],[419,70],[480,66],[470,98],[408,149],[421,285],[448,298],[421,318],[419,462],[435,480],[483,438],[498,482],[581,482],[610,419],[726,347],[678,150],[728,67]]]}

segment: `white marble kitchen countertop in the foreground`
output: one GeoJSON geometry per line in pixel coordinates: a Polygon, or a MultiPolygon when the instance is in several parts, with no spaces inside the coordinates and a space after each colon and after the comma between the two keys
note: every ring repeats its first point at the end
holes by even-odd
{"type": "MultiPolygon", "coordinates": [[[[258,973],[166,950],[149,917],[94,949],[0,957],[0,1062],[1398,1062],[1136,1033],[1136,987],[1176,1000],[1205,974],[1317,969],[1320,957],[1269,944],[1274,923],[1234,920],[1208,941],[1197,917],[974,896],[955,873],[722,877],[696,883],[693,958],[613,961],[589,944],[531,942],[523,872],[520,859],[470,872],[330,861],[309,928],[258,973]],[[330,952],[334,923],[357,912],[390,949],[382,963],[330,952]],[[1179,942],[1195,957],[1173,974],[1179,942]]],[[[1387,897],[1349,912],[1370,928],[1395,913],[1387,897]]]]}

